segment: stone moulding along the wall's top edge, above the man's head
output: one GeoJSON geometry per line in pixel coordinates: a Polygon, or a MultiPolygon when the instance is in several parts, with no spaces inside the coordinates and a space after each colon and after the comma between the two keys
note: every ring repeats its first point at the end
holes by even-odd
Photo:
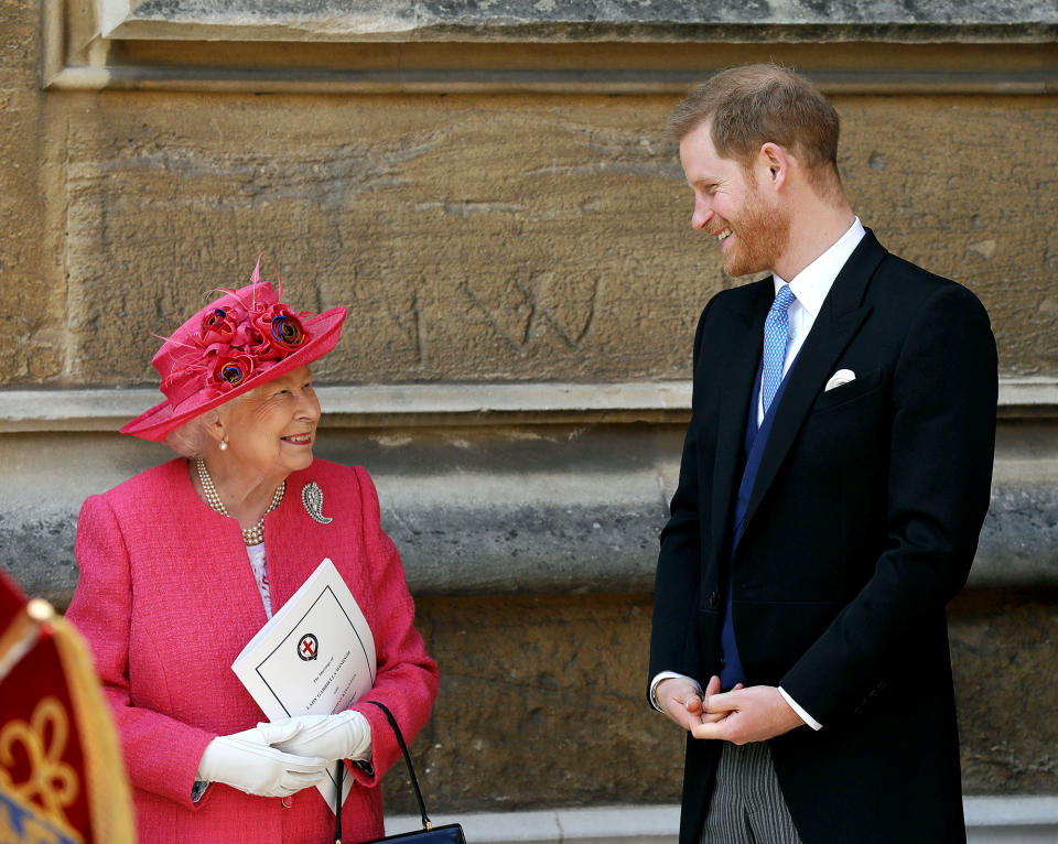
{"type": "Polygon", "coordinates": [[[52,90],[681,94],[711,68],[768,58],[829,93],[1058,89],[1058,8],[1034,0],[43,4],[52,90]]]}

